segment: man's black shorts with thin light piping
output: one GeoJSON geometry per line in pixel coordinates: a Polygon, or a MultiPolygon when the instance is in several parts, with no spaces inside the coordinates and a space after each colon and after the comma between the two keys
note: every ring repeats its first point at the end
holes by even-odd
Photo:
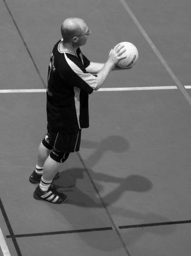
{"type": "Polygon", "coordinates": [[[60,133],[54,132],[47,126],[46,141],[48,144],[58,152],[75,152],[80,150],[81,130],[74,133],[60,133]]]}

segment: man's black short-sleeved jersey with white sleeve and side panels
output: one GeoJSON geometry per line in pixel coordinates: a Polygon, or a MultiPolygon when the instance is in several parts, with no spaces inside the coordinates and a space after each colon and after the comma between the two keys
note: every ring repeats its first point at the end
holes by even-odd
{"type": "Polygon", "coordinates": [[[75,55],[61,43],[54,45],[48,68],[47,121],[55,132],[72,133],[89,127],[88,95],[98,77],[86,71],[90,61],[80,48],[75,55]]]}

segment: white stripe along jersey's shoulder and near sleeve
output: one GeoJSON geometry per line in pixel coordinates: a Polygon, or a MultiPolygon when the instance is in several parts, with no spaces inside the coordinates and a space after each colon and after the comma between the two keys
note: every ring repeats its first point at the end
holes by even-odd
{"type": "Polygon", "coordinates": [[[68,62],[70,68],[80,77],[82,78],[91,88],[96,89],[98,85],[98,77],[93,76],[90,73],[84,73],[73,61],[71,61],[66,53],[64,53],[65,59],[68,62]]]}

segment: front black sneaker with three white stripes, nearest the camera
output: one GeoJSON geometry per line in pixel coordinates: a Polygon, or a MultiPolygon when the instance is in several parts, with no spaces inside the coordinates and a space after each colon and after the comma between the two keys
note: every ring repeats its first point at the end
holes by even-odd
{"type": "Polygon", "coordinates": [[[38,200],[45,200],[53,204],[62,204],[68,200],[67,195],[56,190],[53,184],[50,185],[47,191],[42,191],[38,185],[34,190],[33,196],[38,200]]]}

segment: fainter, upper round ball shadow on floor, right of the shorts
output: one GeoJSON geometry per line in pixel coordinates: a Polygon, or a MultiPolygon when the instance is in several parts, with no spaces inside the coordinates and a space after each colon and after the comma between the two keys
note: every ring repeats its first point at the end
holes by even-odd
{"type": "Polygon", "coordinates": [[[99,151],[126,152],[130,145],[127,140],[121,136],[109,136],[103,139],[99,145],[99,151]]]}

